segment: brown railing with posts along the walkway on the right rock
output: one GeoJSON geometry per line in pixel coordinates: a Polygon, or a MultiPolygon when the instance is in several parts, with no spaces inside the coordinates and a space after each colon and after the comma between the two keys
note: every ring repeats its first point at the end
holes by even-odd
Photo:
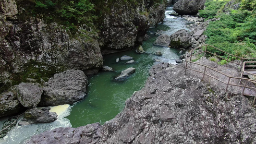
{"type": "MultiPolygon", "coordinates": [[[[254,71],[251,71],[251,70],[250,70],[251,72],[249,72],[248,70],[245,70],[246,67],[256,67],[256,65],[250,65],[250,66],[246,66],[246,65],[245,65],[246,63],[256,63],[256,61],[250,61],[250,60],[256,60],[256,58],[241,58],[241,57],[237,57],[237,56],[232,55],[232,54],[229,54],[229,53],[227,53],[227,52],[225,52],[225,51],[223,51],[223,50],[220,50],[219,48],[215,48],[215,47],[213,47],[213,46],[210,46],[210,45],[206,44],[206,45],[203,45],[203,46],[201,46],[201,47],[194,48],[194,49],[192,49],[191,51],[189,51],[189,52],[186,54],[186,57],[185,57],[185,74],[186,74],[187,69],[188,69],[188,70],[195,71],[195,72],[202,73],[202,74],[203,74],[202,80],[204,79],[205,75],[207,75],[207,76],[209,76],[209,77],[211,77],[211,78],[213,78],[213,79],[215,79],[215,80],[217,80],[217,81],[219,81],[219,82],[221,82],[221,83],[223,83],[223,84],[226,84],[226,85],[227,85],[227,86],[226,86],[226,89],[225,89],[226,91],[228,90],[228,87],[229,87],[229,86],[238,86],[238,87],[241,87],[241,88],[242,88],[242,95],[245,95],[245,93],[248,93],[248,91],[253,91],[252,94],[253,94],[253,96],[255,96],[255,97],[254,97],[254,101],[253,101],[252,105],[254,106],[254,103],[255,103],[255,101],[256,101],[256,87],[255,87],[255,85],[256,85],[256,80],[252,80],[252,79],[248,79],[248,78],[243,78],[243,77],[242,77],[242,76],[244,75],[244,73],[248,73],[248,74],[255,75],[255,74],[254,74],[254,71]],[[203,47],[205,47],[205,49],[204,49],[203,51],[199,51],[199,52],[193,54],[193,51],[195,52],[195,50],[201,49],[201,48],[203,48],[203,47]],[[220,57],[219,55],[214,54],[214,53],[208,51],[208,50],[207,50],[207,47],[211,47],[211,48],[217,49],[217,50],[219,50],[220,52],[222,52],[222,53],[228,55],[228,59],[222,58],[222,57],[220,57]],[[240,65],[241,68],[242,68],[241,77],[233,77],[233,76],[230,76],[230,75],[225,74],[225,73],[223,73],[223,72],[219,72],[218,70],[215,70],[215,69],[213,69],[213,68],[211,68],[211,67],[209,67],[209,66],[206,66],[206,65],[204,65],[204,64],[200,64],[200,63],[196,63],[196,62],[193,62],[193,61],[192,61],[192,57],[193,57],[193,56],[196,56],[196,55],[199,55],[199,54],[204,54],[204,56],[206,56],[207,53],[210,54],[210,55],[216,56],[216,57],[218,57],[218,58],[220,58],[220,59],[222,59],[222,60],[226,60],[226,61],[227,61],[226,64],[228,64],[228,62],[232,62],[232,63],[235,63],[235,64],[240,65]],[[234,61],[229,60],[230,57],[235,57],[235,59],[240,59],[240,60],[241,60],[241,63],[237,63],[237,62],[234,62],[234,61]],[[188,67],[188,63],[193,63],[193,64],[195,64],[195,65],[200,65],[200,66],[204,67],[203,72],[198,71],[198,70],[195,70],[195,69],[192,69],[192,68],[189,68],[189,67],[188,67]],[[221,79],[219,79],[219,78],[216,78],[216,77],[214,77],[214,76],[211,75],[211,74],[206,73],[207,70],[209,70],[209,71],[214,71],[214,72],[218,72],[218,73],[220,73],[220,74],[226,76],[226,77],[228,78],[227,82],[225,82],[225,81],[223,81],[223,80],[221,80],[221,79]],[[232,84],[232,83],[230,83],[230,82],[231,82],[231,79],[238,79],[238,80],[239,80],[239,84],[232,84]],[[242,81],[242,80],[244,81],[244,84],[243,84],[243,85],[241,85],[241,81],[242,81]],[[251,85],[254,85],[254,86],[248,86],[248,85],[247,85],[248,82],[251,83],[251,85]]],[[[256,76],[256,75],[255,75],[255,76],[256,76]]],[[[247,94],[246,96],[249,96],[249,95],[247,94]]]]}

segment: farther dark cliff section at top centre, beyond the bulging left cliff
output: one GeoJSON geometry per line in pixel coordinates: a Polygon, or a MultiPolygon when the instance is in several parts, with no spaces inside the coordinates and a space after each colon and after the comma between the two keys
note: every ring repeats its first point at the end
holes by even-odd
{"type": "Polygon", "coordinates": [[[102,54],[124,51],[141,44],[146,31],[164,18],[167,1],[155,0],[106,1],[99,44],[102,54]]]}

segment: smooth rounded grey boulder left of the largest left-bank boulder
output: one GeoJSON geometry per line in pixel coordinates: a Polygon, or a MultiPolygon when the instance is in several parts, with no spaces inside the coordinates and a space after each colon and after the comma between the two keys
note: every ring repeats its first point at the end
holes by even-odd
{"type": "Polygon", "coordinates": [[[17,86],[17,97],[26,108],[35,108],[41,100],[43,89],[33,83],[21,83],[17,86]]]}

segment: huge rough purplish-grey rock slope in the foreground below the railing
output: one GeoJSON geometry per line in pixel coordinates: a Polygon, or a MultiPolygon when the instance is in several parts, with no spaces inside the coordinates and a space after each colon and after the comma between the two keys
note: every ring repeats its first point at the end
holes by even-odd
{"type": "MultiPolygon", "coordinates": [[[[206,59],[202,62],[216,66],[206,59]]],[[[232,72],[239,74],[237,69],[232,72]]],[[[197,72],[184,75],[184,65],[172,68],[160,63],[150,73],[144,88],[134,92],[123,111],[104,125],[57,128],[33,136],[27,144],[256,143],[256,112],[239,91],[225,92],[218,81],[204,83],[197,72]]]]}

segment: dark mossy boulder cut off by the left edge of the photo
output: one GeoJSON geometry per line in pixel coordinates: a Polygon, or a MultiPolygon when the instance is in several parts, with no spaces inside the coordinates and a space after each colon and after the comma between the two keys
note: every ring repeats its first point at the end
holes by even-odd
{"type": "Polygon", "coordinates": [[[23,108],[14,91],[0,94],[0,117],[16,114],[23,108]]]}

